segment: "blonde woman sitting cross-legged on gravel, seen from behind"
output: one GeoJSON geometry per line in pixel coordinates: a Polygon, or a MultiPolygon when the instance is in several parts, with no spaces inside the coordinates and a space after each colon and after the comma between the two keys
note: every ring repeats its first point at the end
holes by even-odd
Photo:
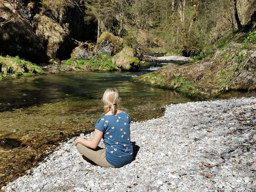
{"type": "Polygon", "coordinates": [[[102,97],[106,115],[95,125],[92,140],[77,138],[75,145],[82,155],[101,167],[121,167],[130,163],[133,148],[130,140],[130,116],[117,109],[121,98],[115,88],[108,88],[102,97]],[[104,140],[98,147],[101,138],[104,140]]]}

